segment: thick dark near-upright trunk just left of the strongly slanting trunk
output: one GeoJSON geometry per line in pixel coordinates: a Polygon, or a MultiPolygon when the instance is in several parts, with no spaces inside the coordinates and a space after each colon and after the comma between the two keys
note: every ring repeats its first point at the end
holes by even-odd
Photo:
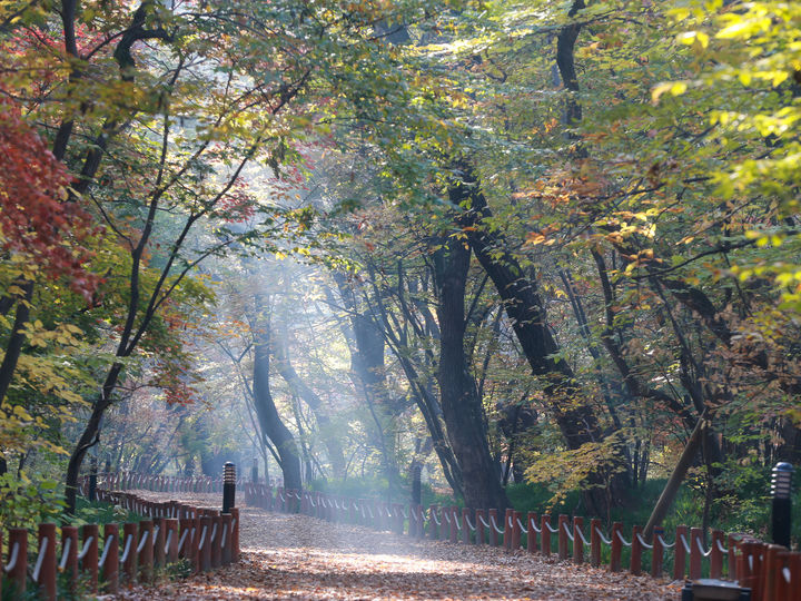
{"type": "Polygon", "coordinates": [[[465,285],[471,252],[461,240],[445,242],[434,257],[439,321],[439,394],[447,436],[462,471],[465,504],[506,509],[498,469],[487,441],[482,400],[465,356],[465,285]]]}

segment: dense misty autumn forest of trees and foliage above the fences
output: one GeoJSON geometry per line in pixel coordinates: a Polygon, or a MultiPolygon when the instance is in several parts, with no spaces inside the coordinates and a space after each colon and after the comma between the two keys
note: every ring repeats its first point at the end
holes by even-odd
{"type": "Polygon", "coordinates": [[[3,522],[73,512],[92,462],[256,461],[763,531],[801,459],[800,30],[772,1],[3,1],[3,522]]]}

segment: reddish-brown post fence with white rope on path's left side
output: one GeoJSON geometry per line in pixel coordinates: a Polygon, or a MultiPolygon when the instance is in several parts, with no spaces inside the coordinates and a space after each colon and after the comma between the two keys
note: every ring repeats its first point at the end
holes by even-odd
{"type": "MultiPolygon", "coordinates": [[[[199,483],[198,483],[199,485],[199,483]]],[[[86,494],[88,481],[81,490],[86,494]]],[[[39,524],[33,545],[23,528],[10,528],[8,556],[0,553],[0,584],[13,587],[16,595],[26,591],[29,580],[41,597],[55,600],[58,574],[70,592],[83,577],[97,593],[117,593],[120,582],[151,582],[157,570],[186,560],[192,572],[207,571],[239,560],[239,510],[230,513],[170,501],[155,503],[134,493],[113,490],[111,479],[97,490],[99,501],[119,505],[145,519],[140,522],[105,524],[102,539],[98,524],[61,526],[60,544],[56,524],[39,524]],[[9,580],[6,584],[3,581],[9,580]]],[[[0,529],[0,550],[3,531],[0,529]]]]}

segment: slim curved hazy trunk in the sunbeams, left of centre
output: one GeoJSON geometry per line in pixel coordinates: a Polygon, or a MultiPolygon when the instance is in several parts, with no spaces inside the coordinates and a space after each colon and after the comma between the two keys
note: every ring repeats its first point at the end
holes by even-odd
{"type": "Polygon", "coordinates": [[[256,328],[254,336],[254,406],[258,416],[261,435],[273,441],[273,444],[280,457],[280,467],[284,472],[284,487],[291,490],[300,490],[303,482],[300,480],[300,456],[295,437],[291,432],[284,425],[278,415],[278,410],[273,401],[270,393],[270,329],[269,319],[264,315],[266,311],[261,295],[256,295],[256,311],[258,312],[255,319],[256,328]]]}

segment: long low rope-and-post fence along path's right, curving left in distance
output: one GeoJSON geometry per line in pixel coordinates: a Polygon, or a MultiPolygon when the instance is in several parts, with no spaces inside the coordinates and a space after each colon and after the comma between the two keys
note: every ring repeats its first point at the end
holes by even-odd
{"type": "MultiPolygon", "coordinates": [[[[141,486],[165,492],[221,490],[221,481],[208,477],[144,477],[136,474],[107,474],[105,477],[120,487],[141,486]]],[[[761,601],[801,601],[801,553],[767,544],[745,534],[725,534],[713,530],[710,545],[706,546],[702,529],[685,525],[676,526],[672,540],[669,541],[660,528],[654,529],[653,535],[646,539],[639,525],[624,532],[623,524],[614,522],[611,530],[604,531],[601,520],[590,520],[587,528],[584,518],[578,515],[558,515],[554,524],[550,514],[538,515],[533,512],[523,515],[521,512],[506,510],[500,518],[496,509],[472,510],[431,505],[426,511],[416,504],[402,505],[313,491],[285,490],[266,482],[240,479],[238,484],[244,490],[247,505],[269,511],[300,513],[328,522],[359,524],[414,539],[427,538],[454,544],[487,544],[503,546],[507,552],[525,550],[545,556],[557,554],[562,560],[577,564],[589,563],[595,568],[602,565],[603,559],[610,572],[625,570],[639,575],[645,571],[643,564],[650,561],[647,572],[655,578],[670,575],[673,580],[696,580],[703,574],[735,581],[740,587],[758,591],[755,598],[761,601]],[[625,565],[624,559],[627,562],[625,565]],[[665,573],[666,560],[672,560],[669,574],[665,573]]],[[[134,504],[145,512],[154,511],[152,504],[142,504],[135,497],[126,496],[127,493],[115,494],[121,503],[134,504]]],[[[202,526],[192,525],[191,534],[181,531],[181,546],[184,538],[194,540],[195,528],[200,532],[202,526]]],[[[210,528],[209,522],[209,532],[210,528]]],[[[177,541],[177,538],[175,540],[177,541]]],[[[201,569],[206,565],[202,561],[205,560],[200,560],[201,569]]]]}

